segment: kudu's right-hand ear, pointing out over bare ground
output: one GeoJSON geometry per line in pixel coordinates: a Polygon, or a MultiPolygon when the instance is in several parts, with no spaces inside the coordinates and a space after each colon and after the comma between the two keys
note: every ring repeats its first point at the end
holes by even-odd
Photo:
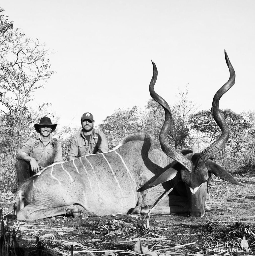
{"type": "Polygon", "coordinates": [[[223,180],[229,181],[232,184],[238,185],[238,186],[244,186],[241,183],[239,183],[230,173],[228,173],[224,168],[220,167],[218,164],[214,163],[212,160],[208,159],[206,161],[207,169],[213,173],[215,176],[220,177],[223,180]]]}

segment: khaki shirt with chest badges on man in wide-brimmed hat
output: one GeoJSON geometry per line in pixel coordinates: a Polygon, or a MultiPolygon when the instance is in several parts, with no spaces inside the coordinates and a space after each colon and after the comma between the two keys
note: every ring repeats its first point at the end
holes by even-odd
{"type": "Polygon", "coordinates": [[[17,159],[23,160],[25,156],[30,156],[38,163],[40,170],[53,163],[63,162],[62,147],[60,142],[50,136],[50,140],[44,146],[41,141],[41,134],[27,141],[18,151],[17,159]]]}

